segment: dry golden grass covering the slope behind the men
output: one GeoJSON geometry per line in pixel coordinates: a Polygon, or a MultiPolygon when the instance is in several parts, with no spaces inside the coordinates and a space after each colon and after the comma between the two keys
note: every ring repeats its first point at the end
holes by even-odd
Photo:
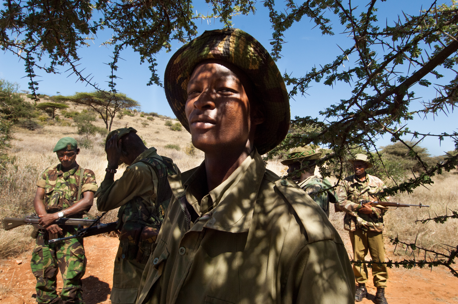
{"type": "MultiPolygon", "coordinates": [[[[81,111],[82,107],[71,105],[68,110],[81,111]]],[[[173,121],[175,123],[176,121],[173,121]]],[[[164,125],[165,121],[155,118],[154,121],[147,120],[136,114],[133,117],[124,116],[123,119],[115,119],[112,130],[120,127],[131,126],[138,131],[138,135],[147,142],[147,147],[156,147],[160,155],[170,157],[178,165],[180,170],[186,171],[198,166],[203,161],[203,152],[196,150],[194,156],[185,153],[186,147],[191,143],[191,135],[186,131],[172,131],[164,125]],[[142,122],[147,121],[149,125],[142,126],[142,122]],[[168,144],[178,145],[180,151],[165,148],[168,144]]],[[[102,119],[97,119],[94,123],[103,127],[102,119]]],[[[57,125],[47,125],[43,129],[29,131],[17,129],[14,133],[15,139],[11,141],[12,147],[9,154],[16,157],[13,164],[9,164],[1,174],[0,188],[0,218],[24,216],[33,212],[32,200],[36,190],[36,180],[45,168],[58,163],[55,153],[52,152],[55,143],[64,136],[75,137],[76,140],[85,139],[85,136],[76,134],[76,127],[60,127],[57,125]]],[[[104,169],[107,166],[107,159],[104,152],[104,136],[96,135],[88,137],[93,142],[92,148],[81,148],[81,153],[77,161],[82,167],[94,171],[98,184],[104,179],[104,169]]],[[[286,174],[287,167],[278,160],[269,161],[267,168],[283,176],[286,174]]],[[[122,166],[115,174],[115,179],[119,178],[124,172],[122,166]]],[[[336,180],[331,179],[332,182],[336,180]]],[[[392,201],[401,203],[422,203],[431,205],[427,208],[399,208],[387,212],[385,216],[387,236],[399,235],[400,239],[414,241],[418,234],[417,244],[427,247],[437,248],[442,243],[458,243],[458,220],[449,220],[445,224],[415,224],[414,220],[427,217],[428,211],[431,215],[434,212],[444,214],[446,206],[456,209],[458,198],[458,175],[447,174],[445,177],[436,178],[436,183],[429,187],[418,188],[410,195],[398,195],[392,201]]],[[[96,211],[95,202],[91,213],[100,214],[96,211]]],[[[104,217],[104,222],[116,220],[117,211],[111,211],[104,217]]],[[[341,234],[342,238],[348,242],[348,232],[343,229],[342,212],[334,213],[331,206],[330,220],[341,234]]],[[[30,227],[16,228],[11,231],[0,230],[0,256],[17,255],[24,250],[29,250],[33,245],[33,240],[29,237],[30,227]]]]}

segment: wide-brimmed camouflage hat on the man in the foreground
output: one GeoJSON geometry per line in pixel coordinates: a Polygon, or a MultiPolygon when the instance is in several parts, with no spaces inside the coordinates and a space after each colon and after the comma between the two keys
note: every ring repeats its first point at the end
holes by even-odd
{"type": "Polygon", "coordinates": [[[251,35],[237,28],[205,31],[182,46],[165,69],[165,96],[175,116],[189,132],[185,114],[187,86],[196,65],[202,60],[227,61],[251,79],[265,121],[256,127],[254,145],[259,154],[277,146],[289,129],[289,98],[286,86],[266,49],[251,35]]]}

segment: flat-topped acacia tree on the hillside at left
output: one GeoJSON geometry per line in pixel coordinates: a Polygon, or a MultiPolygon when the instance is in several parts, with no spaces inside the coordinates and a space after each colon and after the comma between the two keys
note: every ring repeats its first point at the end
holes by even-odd
{"type": "Polygon", "coordinates": [[[140,107],[140,103],[120,92],[77,92],[73,96],[57,95],[53,96],[53,98],[56,101],[71,101],[92,108],[100,114],[108,131],[111,131],[111,125],[116,113],[124,109],[140,107]]]}

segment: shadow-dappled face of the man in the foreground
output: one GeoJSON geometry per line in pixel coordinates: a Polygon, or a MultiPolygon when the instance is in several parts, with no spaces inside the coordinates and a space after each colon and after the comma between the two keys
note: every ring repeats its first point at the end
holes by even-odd
{"type": "Polygon", "coordinates": [[[196,148],[206,153],[244,149],[247,143],[252,148],[254,125],[263,119],[251,114],[248,98],[251,92],[246,91],[243,82],[243,76],[231,71],[224,62],[196,66],[187,87],[185,105],[196,148]]]}

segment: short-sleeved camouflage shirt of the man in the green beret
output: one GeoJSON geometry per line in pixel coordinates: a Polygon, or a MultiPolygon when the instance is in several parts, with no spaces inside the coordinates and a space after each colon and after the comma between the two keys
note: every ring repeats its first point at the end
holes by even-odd
{"type": "MultiPolygon", "coordinates": [[[[83,169],[82,190],[97,191],[95,174],[92,170],[83,169]]],[[[62,165],[49,167],[41,174],[37,186],[44,188],[44,206],[46,211],[56,212],[70,207],[78,201],[81,167],[78,165],[67,172],[62,172],[62,165]]]]}

